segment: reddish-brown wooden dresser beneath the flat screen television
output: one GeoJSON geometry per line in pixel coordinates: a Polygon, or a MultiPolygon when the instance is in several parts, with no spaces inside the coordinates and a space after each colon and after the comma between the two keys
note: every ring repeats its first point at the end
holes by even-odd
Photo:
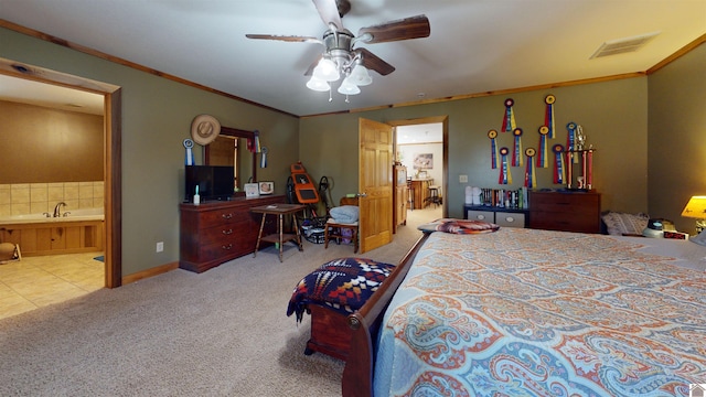
{"type": "MultiPolygon", "coordinates": [[[[250,213],[250,208],[280,203],[285,203],[284,195],[180,204],[179,267],[203,272],[254,253],[261,215],[250,213]]],[[[270,233],[275,226],[274,222],[265,225],[270,233]]]]}

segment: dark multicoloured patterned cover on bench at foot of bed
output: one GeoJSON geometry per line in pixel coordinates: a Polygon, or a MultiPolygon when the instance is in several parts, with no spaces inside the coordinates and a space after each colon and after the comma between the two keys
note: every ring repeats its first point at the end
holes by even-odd
{"type": "Polygon", "coordinates": [[[301,321],[307,304],[330,307],[343,314],[353,313],[385,281],[394,265],[366,258],[339,258],[321,265],[306,276],[289,300],[287,315],[301,321]]]}

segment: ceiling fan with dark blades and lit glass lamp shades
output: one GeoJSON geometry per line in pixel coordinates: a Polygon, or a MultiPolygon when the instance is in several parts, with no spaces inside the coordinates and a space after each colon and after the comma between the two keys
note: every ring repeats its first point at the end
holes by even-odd
{"type": "MultiPolygon", "coordinates": [[[[312,0],[319,15],[328,30],[322,39],[311,36],[246,34],[248,39],[278,40],[286,42],[306,42],[323,45],[324,51],[304,73],[311,76],[307,87],[313,90],[329,90],[329,82],[335,82],[344,76],[339,93],[345,95],[359,94],[360,86],[372,83],[367,73],[373,69],[386,76],[395,71],[395,67],[383,61],[372,52],[363,47],[356,47],[357,43],[386,43],[400,40],[427,37],[430,34],[429,20],[426,15],[405,18],[373,26],[362,28],[354,35],[343,28],[341,18],[351,10],[349,0],[312,0]]],[[[331,97],[329,96],[329,100],[331,97]]],[[[347,101],[347,98],[346,98],[347,101]]]]}

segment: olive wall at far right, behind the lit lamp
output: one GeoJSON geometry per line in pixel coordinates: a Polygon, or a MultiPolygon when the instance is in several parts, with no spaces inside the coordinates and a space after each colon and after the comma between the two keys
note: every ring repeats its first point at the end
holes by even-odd
{"type": "Polygon", "coordinates": [[[682,217],[693,195],[706,195],[706,45],[650,76],[650,214],[694,234],[682,217]]]}

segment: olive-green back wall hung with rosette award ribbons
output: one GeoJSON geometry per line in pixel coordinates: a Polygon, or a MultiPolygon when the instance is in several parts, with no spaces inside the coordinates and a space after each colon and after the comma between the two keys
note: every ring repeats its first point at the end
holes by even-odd
{"type": "MultiPolygon", "coordinates": [[[[391,76],[389,78],[394,78],[391,76]]],[[[300,153],[312,176],[328,175],[335,181],[333,198],[357,191],[357,119],[377,121],[448,116],[448,186],[443,189],[448,215],[463,215],[467,185],[517,189],[525,169],[513,167],[512,185],[498,183],[499,170],[491,168],[488,131],[500,130],[504,99],[512,97],[517,127],[523,129],[523,147],[537,148],[537,129],[544,124],[546,95],[556,96],[557,135],[549,141],[566,144],[566,125],[584,127],[588,143],[597,149],[593,185],[602,193],[602,208],[623,212],[648,211],[648,78],[637,77],[606,83],[568,86],[488,96],[447,103],[389,108],[360,114],[303,118],[300,121],[300,153]],[[459,183],[459,175],[469,183],[459,183]]],[[[504,146],[512,138],[502,133],[504,146]]],[[[553,155],[549,160],[553,161],[553,155]]],[[[560,187],[553,182],[553,168],[537,169],[538,187],[560,187]]]]}

